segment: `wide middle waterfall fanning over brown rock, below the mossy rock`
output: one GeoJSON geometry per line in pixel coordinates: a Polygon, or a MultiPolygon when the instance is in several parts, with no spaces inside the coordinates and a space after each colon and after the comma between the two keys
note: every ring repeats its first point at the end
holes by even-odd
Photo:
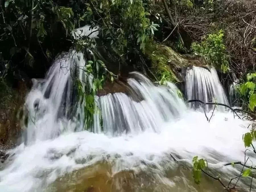
{"type": "Polygon", "coordinates": [[[185,103],[177,95],[177,87],[154,86],[144,75],[133,72],[128,84],[141,95],[136,102],[124,93],[100,97],[105,133],[119,135],[123,132],[138,133],[144,130],[159,132],[163,122],[177,118],[186,110],[185,103]]]}

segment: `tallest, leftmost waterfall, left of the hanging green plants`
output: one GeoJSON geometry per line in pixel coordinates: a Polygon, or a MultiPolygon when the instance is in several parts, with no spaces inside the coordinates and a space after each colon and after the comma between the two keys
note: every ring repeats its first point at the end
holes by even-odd
{"type": "Polygon", "coordinates": [[[44,80],[34,80],[25,107],[28,111],[26,143],[57,137],[68,123],[74,96],[75,66],[84,66],[82,53],[71,51],[53,63],[44,80]],[[65,121],[59,121],[65,119],[65,121]]]}

